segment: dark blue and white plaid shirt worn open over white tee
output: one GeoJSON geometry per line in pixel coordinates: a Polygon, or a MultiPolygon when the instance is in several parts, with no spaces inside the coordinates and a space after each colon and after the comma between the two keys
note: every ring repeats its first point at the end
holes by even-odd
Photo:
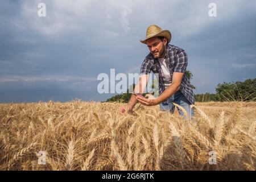
{"type": "MultiPolygon", "coordinates": [[[[170,65],[169,67],[170,67],[171,78],[174,72],[184,73],[181,81],[181,85],[180,85],[180,91],[187,98],[187,100],[191,102],[191,104],[195,104],[192,85],[185,73],[185,70],[188,65],[187,53],[182,48],[167,44],[166,55],[164,56],[164,58],[166,58],[167,64],[170,65]]],[[[146,58],[144,59],[141,65],[141,74],[149,74],[151,71],[153,73],[159,74],[159,94],[162,94],[165,90],[165,86],[164,86],[164,80],[163,80],[160,63],[158,59],[155,59],[154,56],[151,55],[151,53],[148,53],[148,55],[146,56],[146,58]]],[[[163,103],[167,103],[167,100],[164,101],[163,103]]]]}

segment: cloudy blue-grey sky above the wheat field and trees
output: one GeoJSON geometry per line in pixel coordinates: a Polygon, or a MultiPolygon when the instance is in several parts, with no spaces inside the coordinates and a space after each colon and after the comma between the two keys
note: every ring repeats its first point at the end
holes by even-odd
{"type": "Polygon", "coordinates": [[[3,0],[0,102],[104,101],[100,73],[139,73],[157,24],[188,53],[195,93],[256,77],[256,1],[3,0]],[[38,4],[46,4],[46,17],[38,4]],[[216,3],[217,16],[208,15],[216,3]]]}

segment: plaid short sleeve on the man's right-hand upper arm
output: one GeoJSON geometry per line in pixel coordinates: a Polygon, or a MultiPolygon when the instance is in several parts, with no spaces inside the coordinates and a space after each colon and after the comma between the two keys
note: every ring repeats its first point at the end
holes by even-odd
{"type": "Polygon", "coordinates": [[[188,65],[188,55],[185,51],[181,51],[175,56],[174,72],[184,73],[188,65]]]}

